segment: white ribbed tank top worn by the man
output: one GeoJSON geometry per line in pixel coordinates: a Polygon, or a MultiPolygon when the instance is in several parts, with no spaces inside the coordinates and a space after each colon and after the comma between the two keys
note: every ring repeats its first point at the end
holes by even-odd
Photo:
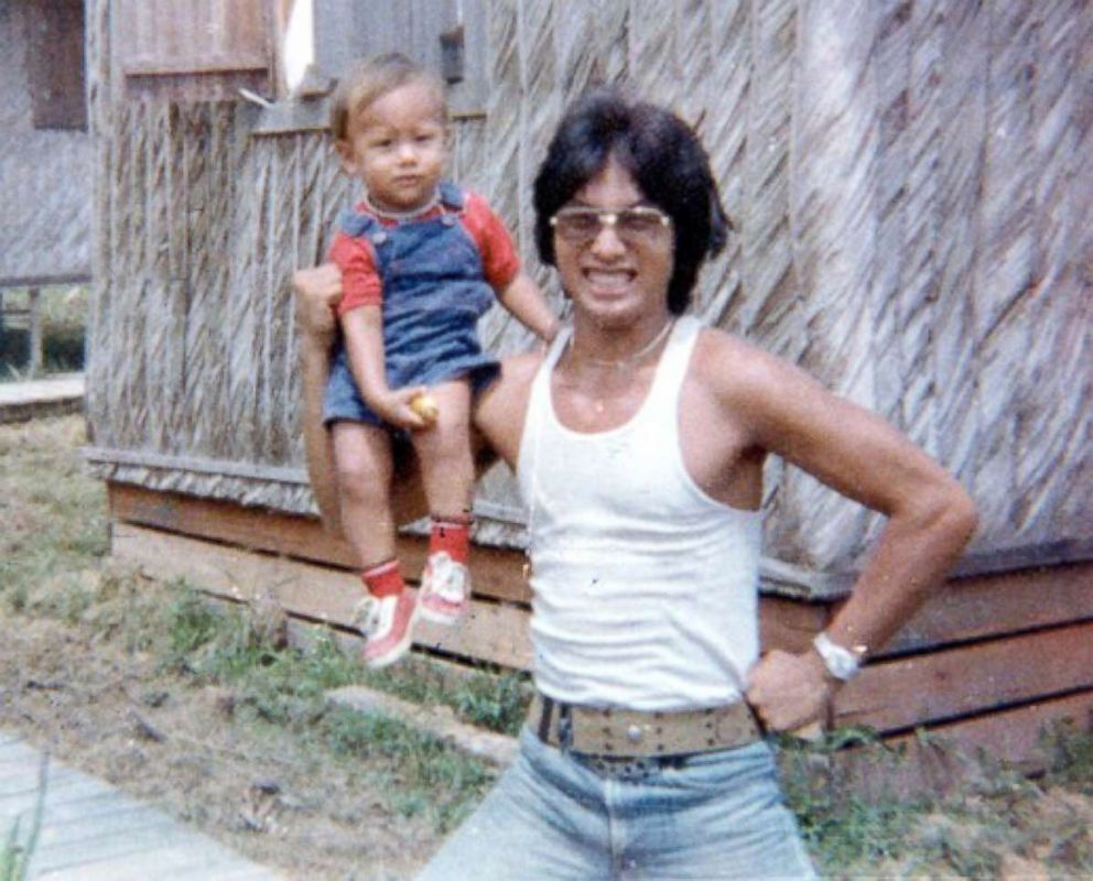
{"type": "Polygon", "coordinates": [[[649,393],[617,428],[573,432],[550,377],[531,388],[517,465],[528,507],[535,685],[596,707],[732,703],[758,655],[760,516],[702,490],[683,466],[679,400],[701,329],[677,320],[649,393]]]}

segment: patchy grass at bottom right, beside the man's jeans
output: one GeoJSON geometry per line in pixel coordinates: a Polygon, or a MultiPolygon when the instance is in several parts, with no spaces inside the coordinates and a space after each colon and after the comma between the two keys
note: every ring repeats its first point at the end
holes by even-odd
{"type": "MultiPolygon", "coordinates": [[[[1093,877],[1093,827],[1089,814],[1068,801],[1068,793],[1089,794],[1093,732],[1061,726],[1046,740],[1054,761],[1038,779],[984,754],[970,779],[974,783],[952,781],[945,793],[900,795],[875,784],[897,777],[906,751],[867,731],[835,731],[815,743],[783,742],[782,781],[829,879],[996,878],[1007,855],[1029,860],[1050,878],[1093,877]],[[853,777],[836,761],[848,744],[859,750],[853,777]],[[863,765],[874,784],[869,792],[859,782],[863,765]]],[[[927,733],[920,744],[948,749],[927,733]]]]}

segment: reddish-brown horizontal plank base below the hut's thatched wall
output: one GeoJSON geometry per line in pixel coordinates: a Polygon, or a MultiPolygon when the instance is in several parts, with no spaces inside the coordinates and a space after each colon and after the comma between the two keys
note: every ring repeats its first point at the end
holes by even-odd
{"type": "MultiPolygon", "coordinates": [[[[349,630],[360,590],[354,555],[315,521],[122,483],[109,486],[109,498],[118,559],[229,601],[272,601],[296,620],[349,630]]],[[[408,573],[421,572],[426,545],[424,537],[400,540],[408,573]]],[[[473,567],[467,618],[455,628],[419,623],[418,650],[529,670],[522,554],[477,547],[473,567]]],[[[912,752],[926,746],[932,775],[919,788],[951,784],[960,769],[950,761],[975,760],[981,751],[992,760],[1042,762],[1045,727],[1093,726],[1091,587],[1093,563],[951,579],[840,689],[829,722],[873,729],[912,752]],[[939,776],[946,772],[948,781],[939,776]]],[[[804,651],[836,609],[762,596],[762,649],[804,651]]]]}

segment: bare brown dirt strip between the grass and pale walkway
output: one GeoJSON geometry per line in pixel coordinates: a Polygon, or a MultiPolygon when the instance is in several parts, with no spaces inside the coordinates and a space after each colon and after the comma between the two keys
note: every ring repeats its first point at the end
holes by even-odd
{"type": "Polygon", "coordinates": [[[0,644],[0,727],[291,878],[409,878],[439,844],[351,766],[234,724],[227,689],[55,620],[6,617],[0,644]]]}

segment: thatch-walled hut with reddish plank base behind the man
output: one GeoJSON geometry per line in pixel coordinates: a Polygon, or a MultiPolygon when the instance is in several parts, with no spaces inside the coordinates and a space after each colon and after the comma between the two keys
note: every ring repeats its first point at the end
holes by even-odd
{"type": "MultiPolygon", "coordinates": [[[[306,486],[289,278],[322,259],[351,193],[324,99],[279,97],[290,6],[88,0],[87,456],[119,556],[344,623],[353,561],[306,486]],[[220,42],[178,40],[180,15],[221,22],[220,42]]],[[[366,7],[320,0],[315,33],[340,17],[339,39],[364,33],[350,50],[409,46],[445,70],[453,176],[499,206],[531,267],[531,180],[566,101],[609,80],[674,107],[738,230],[696,311],[879,411],[972,491],[982,527],[956,577],[841,692],[834,722],[927,726],[1014,759],[1047,722],[1089,722],[1093,7],[414,0],[371,30],[353,18],[366,7]],[[462,66],[442,67],[442,36],[462,66]]],[[[318,45],[318,66],[339,46],[318,45]]],[[[500,311],[483,334],[528,342],[500,311]]],[[[524,667],[511,478],[491,474],[477,508],[474,614],[421,641],[524,667]]],[[[764,638],[803,646],[880,522],[779,463],[766,510],[764,638]]],[[[404,546],[413,572],[420,540],[404,546]]]]}

